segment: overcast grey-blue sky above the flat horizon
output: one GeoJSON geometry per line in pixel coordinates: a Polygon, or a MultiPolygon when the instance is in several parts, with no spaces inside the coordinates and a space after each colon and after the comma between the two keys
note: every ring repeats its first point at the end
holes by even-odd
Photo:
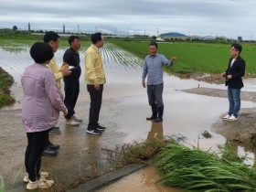
{"type": "Polygon", "coordinates": [[[256,39],[255,0],[1,0],[0,28],[256,39]]]}

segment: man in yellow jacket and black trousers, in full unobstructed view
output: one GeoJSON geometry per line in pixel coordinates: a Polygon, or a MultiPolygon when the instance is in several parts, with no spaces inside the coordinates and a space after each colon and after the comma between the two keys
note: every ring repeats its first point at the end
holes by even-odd
{"type": "Polygon", "coordinates": [[[103,47],[104,39],[101,33],[91,35],[91,47],[85,53],[85,82],[87,91],[91,97],[89,124],[87,133],[101,135],[105,127],[99,124],[103,84],[106,83],[100,48],[103,47]]]}

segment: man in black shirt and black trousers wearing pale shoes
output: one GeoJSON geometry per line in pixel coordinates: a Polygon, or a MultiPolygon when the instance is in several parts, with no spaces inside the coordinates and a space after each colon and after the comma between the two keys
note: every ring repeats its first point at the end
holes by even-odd
{"type": "Polygon", "coordinates": [[[69,63],[69,68],[72,72],[69,77],[64,78],[64,103],[69,110],[69,114],[65,118],[67,119],[66,124],[79,125],[82,120],[74,115],[74,109],[80,92],[80,38],[70,36],[68,41],[70,48],[65,51],[63,61],[69,63]]]}

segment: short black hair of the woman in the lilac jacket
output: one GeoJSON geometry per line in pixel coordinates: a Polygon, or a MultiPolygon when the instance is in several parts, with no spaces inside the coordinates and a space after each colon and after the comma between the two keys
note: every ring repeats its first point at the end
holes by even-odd
{"type": "Polygon", "coordinates": [[[48,43],[37,42],[30,48],[30,56],[36,63],[43,64],[52,59],[54,53],[48,43]]]}

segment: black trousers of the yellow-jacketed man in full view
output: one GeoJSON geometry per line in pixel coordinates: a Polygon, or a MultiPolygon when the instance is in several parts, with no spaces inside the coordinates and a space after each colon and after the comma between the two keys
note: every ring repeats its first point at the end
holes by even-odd
{"type": "Polygon", "coordinates": [[[98,91],[94,89],[94,85],[87,85],[87,91],[89,91],[91,97],[88,129],[96,129],[99,125],[103,84],[100,85],[98,91]]]}

